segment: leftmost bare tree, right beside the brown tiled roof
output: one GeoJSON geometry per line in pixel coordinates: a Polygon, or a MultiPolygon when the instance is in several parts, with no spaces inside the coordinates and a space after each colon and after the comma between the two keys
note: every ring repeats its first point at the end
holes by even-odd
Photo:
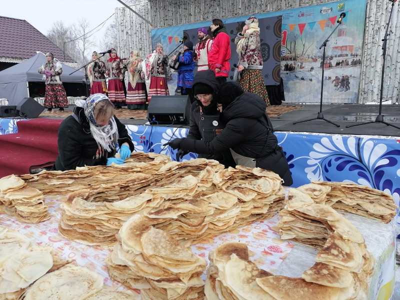
{"type": "MultiPolygon", "coordinates": [[[[72,28],[66,26],[61,20],[55,21],[50,30],[47,31],[47,38],[56,44],[66,55],[76,60],[76,43],[74,41],[68,42],[74,39],[72,28]]],[[[63,60],[64,57],[57,57],[59,60],[63,60]]]]}

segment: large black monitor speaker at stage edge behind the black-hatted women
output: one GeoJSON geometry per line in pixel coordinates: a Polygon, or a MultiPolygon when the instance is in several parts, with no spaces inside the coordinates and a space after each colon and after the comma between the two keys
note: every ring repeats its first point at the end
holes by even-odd
{"type": "Polygon", "coordinates": [[[147,108],[149,122],[188,124],[190,119],[189,96],[152,96],[147,108]]]}

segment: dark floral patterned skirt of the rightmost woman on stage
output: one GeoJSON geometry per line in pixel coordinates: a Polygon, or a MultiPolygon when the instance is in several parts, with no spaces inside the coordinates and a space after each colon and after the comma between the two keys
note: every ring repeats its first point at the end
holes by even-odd
{"type": "Polygon", "coordinates": [[[244,91],[252,92],[259,95],[266,102],[266,105],[270,105],[268,93],[262,77],[262,71],[260,69],[244,69],[240,74],[239,84],[244,91]]]}

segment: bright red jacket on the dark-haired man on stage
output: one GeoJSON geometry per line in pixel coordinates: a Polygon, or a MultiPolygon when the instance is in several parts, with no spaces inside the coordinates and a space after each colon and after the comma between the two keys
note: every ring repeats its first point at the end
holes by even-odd
{"type": "Polygon", "coordinates": [[[215,71],[221,70],[215,76],[227,77],[230,69],[230,38],[225,32],[218,32],[213,38],[211,49],[208,52],[208,68],[215,71]]]}

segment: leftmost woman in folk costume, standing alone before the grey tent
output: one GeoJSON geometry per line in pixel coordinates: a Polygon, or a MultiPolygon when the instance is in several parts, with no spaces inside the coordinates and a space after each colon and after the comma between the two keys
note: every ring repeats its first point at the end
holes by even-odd
{"type": "Polygon", "coordinates": [[[57,107],[59,107],[59,110],[64,110],[64,107],[68,107],[68,100],[60,78],[62,65],[51,52],[46,53],[46,58],[47,61],[37,70],[40,74],[43,74],[43,80],[46,84],[44,107],[48,111],[57,107]]]}

